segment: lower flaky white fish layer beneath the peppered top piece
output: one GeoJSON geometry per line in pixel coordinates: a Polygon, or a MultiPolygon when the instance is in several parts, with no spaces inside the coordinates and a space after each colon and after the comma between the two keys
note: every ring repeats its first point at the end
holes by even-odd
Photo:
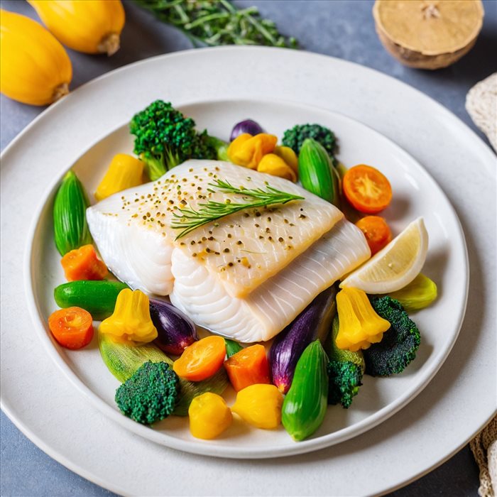
{"type": "Polygon", "coordinates": [[[231,297],[195,258],[175,249],[170,300],[202,327],[239,342],[265,342],[369,256],[362,232],[343,219],[283,271],[240,299],[231,297]]]}

